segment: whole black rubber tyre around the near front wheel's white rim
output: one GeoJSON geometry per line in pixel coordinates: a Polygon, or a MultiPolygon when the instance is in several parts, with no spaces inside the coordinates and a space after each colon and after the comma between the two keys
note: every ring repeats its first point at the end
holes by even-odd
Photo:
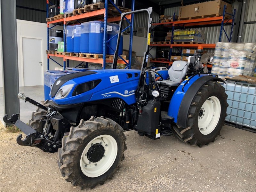
{"type": "Polygon", "coordinates": [[[103,185],[119,169],[120,161],[124,160],[125,140],[122,127],[111,119],[92,117],[88,121],[81,120],[77,127],[70,128],[69,135],[62,139],[62,148],[58,149],[58,165],[62,176],[67,182],[81,189],[103,185]],[[110,135],[116,140],[118,148],[116,159],[107,172],[98,177],[87,177],[80,167],[81,155],[92,139],[103,134],[110,135]]]}

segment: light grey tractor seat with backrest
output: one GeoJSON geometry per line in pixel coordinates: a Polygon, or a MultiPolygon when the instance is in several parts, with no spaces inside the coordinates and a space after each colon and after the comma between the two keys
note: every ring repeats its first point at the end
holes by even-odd
{"type": "Polygon", "coordinates": [[[178,86],[182,79],[185,77],[188,69],[187,61],[174,61],[172,67],[168,70],[170,80],[157,81],[158,84],[168,86],[178,86]]]}

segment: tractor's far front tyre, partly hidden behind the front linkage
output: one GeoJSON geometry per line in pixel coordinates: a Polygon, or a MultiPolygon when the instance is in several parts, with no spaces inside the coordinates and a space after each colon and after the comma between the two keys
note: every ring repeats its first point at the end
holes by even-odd
{"type": "MultiPolygon", "coordinates": [[[[49,107],[49,100],[46,100],[44,102],[44,106],[45,107],[49,107]]],[[[28,125],[30,127],[32,127],[33,129],[35,129],[38,132],[43,132],[44,129],[44,125],[46,123],[46,121],[44,122],[40,122],[40,120],[44,120],[46,119],[46,117],[40,117],[41,115],[46,115],[47,111],[45,111],[44,109],[41,109],[39,107],[36,108],[36,111],[32,112],[32,116],[31,116],[31,120],[28,121],[28,125]]]]}

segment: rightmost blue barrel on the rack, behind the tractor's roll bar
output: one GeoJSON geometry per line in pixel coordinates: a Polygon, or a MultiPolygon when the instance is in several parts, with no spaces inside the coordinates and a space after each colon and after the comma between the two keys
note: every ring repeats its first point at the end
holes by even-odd
{"type": "MultiPolygon", "coordinates": [[[[114,37],[116,34],[118,34],[118,32],[119,32],[118,24],[108,23],[108,25],[107,25],[108,40],[111,39],[112,37],[114,37]]],[[[124,37],[122,34],[120,37],[120,44],[119,44],[119,48],[118,48],[119,55],[123,54],[123,41],[124,41],[124,37]]],[[[108,42],[108,45],[110,47],[107,46],[107,54],[114,55],[115,50],[116,50],[116,44],[117,44],[117,35],[108,42]]]]}

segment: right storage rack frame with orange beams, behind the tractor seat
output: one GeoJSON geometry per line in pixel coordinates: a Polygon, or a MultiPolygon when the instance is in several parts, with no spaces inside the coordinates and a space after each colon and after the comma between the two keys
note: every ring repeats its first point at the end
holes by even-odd
{"type": "MultiPolygon", "coordinates": [[[[172,48],[173,47],[195,47],[195,48],[200,47],[201,49],[203,49],[203,48],[215,48],[216,44],[173,44],[174,27],[177,26],[179,28],[185,28],[185,27],[190,27],[190,26],[209,26],[209,25],[220,24],[219,42],[221,42],[223,31],[224,31],[225,35],[227,36],[227,38],[228,38],[228,42],[231,42],[231,38],[232,38],[232,34],[233,34],[233,28],[234,28],[235,17],[236,17],[236,9],[233,10],[233,14],[227,13],[226,12],[226,5],[224,5],[222,16],[219,16],[219,17],[207,17],[207,18],[200,18],[200,19],[175,21],[175,12],[174,12],[173,13],[173,18],[174,18],[173,21],[171,21],[171,22],[164,22],[164,23],[153,23],[152,24],[152,25],[155,25],[155,26],[157,26],[157,25],[165,25],[165,27],[171,27],[172,28],[171,44],[150,44],[150,46],[170,47],[169,60],[170,60],[170,58],[172,56],[172,48]],[[225,15],[226,14],[230,15],[231,17],[229,19],[225,19],[225,15]],[[226,24],[228,24],[228,23],[231,23],[231,30],[230,30],[229,36],[228,36],[227,32],[224,29],[224,26],[226,24]]],[[[179,51],[181,52],[181,50],[179,50],[179,51]]],[[[150,62],[168,63],[169,66],[172,64],[171,61],[155,61],[155,60],[152,60],[150,62]]],[[[207,65],[207,67],[211,67],[211,66],[207,65]]]]}

